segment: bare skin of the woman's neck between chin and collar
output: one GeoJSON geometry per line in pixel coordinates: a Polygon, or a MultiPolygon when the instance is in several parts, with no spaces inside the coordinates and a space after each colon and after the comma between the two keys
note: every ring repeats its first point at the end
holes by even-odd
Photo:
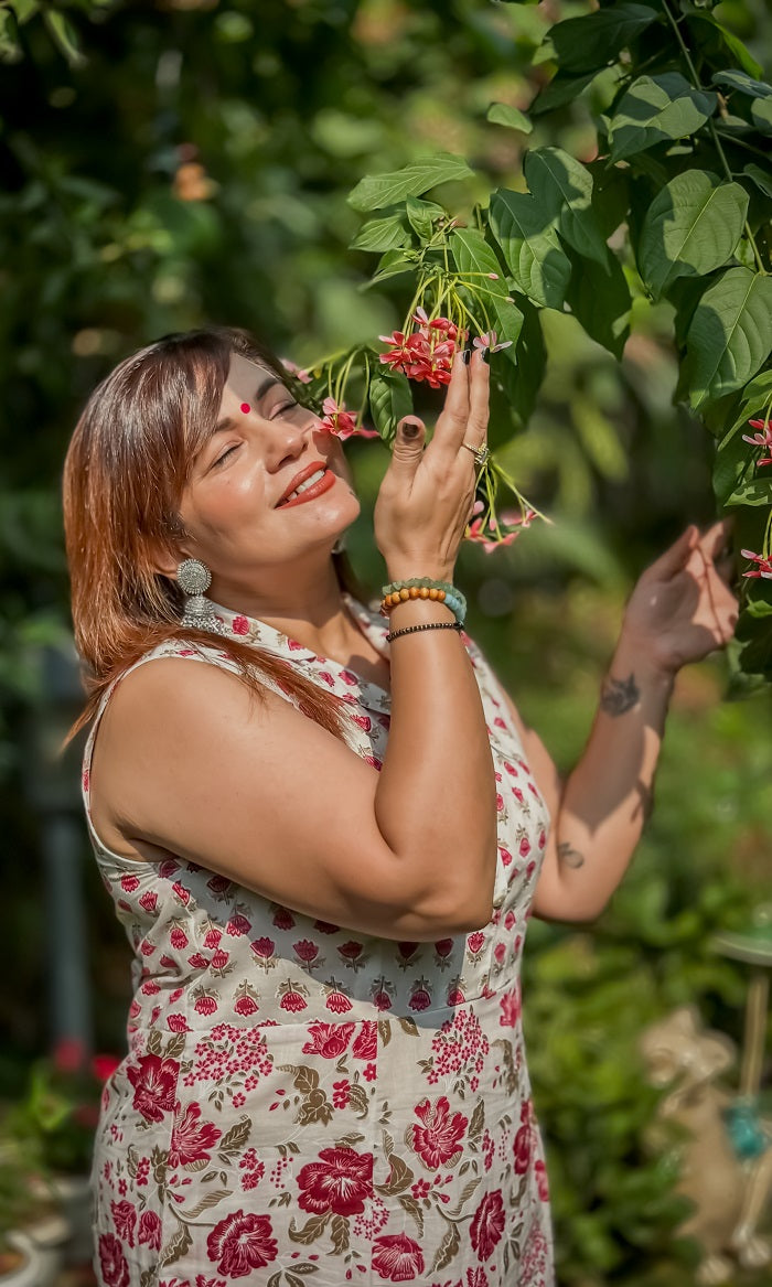
{"type": "Polygon", "coordinates": [[[328,555],[313,564],[304,560],[302,568],[283,566],[274,573],[261,573],[259,589],[253,584],[217,578],[208,595],[223,607],[266,622],[322,655],[335,655],[336,647],[350,637],[351,628],[356,631],[328,555]]]}

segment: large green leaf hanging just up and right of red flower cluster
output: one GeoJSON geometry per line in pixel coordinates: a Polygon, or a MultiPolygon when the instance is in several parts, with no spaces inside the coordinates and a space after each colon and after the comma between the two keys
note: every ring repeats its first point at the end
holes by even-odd
{"type": "Polygon", "coordinates": [[[571,263],[537,199],[499,188],[489,220],[517,288],[534,304],[562,311],[571,263]]]}

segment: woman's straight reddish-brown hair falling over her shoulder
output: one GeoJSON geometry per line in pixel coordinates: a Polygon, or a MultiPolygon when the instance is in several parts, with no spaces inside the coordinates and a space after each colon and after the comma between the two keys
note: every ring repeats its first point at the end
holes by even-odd
{"type": "MultiPolygon", "coordinates": [[[[94,390],[64,461],[64,538],[77,650],[86,663],[87,703],[73,736],[96,713],[106,689],[158,644],[180,638],[217,649],[243,682],[262,694],[270,678],[304,714],[342,736],[342,704],[262,649],[180,625],[183,595],[156,569],[176,557],[178,510],[198,447],[217,418],[230,356],[242,354],[290,385],[278,358],[246,331],[211,327],[165,336],[126,358],[94,390]]],[[[359,592],[336,555],[342,587],[359,592]]]]}

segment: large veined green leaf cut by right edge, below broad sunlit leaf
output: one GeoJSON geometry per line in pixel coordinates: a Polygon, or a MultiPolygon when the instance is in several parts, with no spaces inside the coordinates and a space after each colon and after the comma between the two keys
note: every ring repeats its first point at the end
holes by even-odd
{"type": "Polygon", "coordinates": [[[740,389],[772,349],[772,277],[730,268],[708,287],[686,337],[692,408],[740,389]]]}

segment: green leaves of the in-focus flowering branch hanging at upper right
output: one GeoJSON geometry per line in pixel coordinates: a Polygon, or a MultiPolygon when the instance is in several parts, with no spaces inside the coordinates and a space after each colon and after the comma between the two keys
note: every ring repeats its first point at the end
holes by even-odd
{"type": "MultiPolygon", "coordinates": [[[[610,100],[597,118],[598,160],[589,165],[565,148],[537,144],[524,156],[526,192],[497,188],[486,208],[475,207],[475,227],[454,227],[458,219],[448,212],[445,221],[437,219],[426,234],[419,232],[410,250],[404,248],[404,215],[394,211],[389,237],[399,238],[400,248],[387,251],[374,281],[414,272],[418,290],[405,333],[414,324],[417,301],[431,304],[428,315],[435,318],[455,300],[463,313],[459,326],[477,332],[493,327],[499,338],[511,341],[506,360],[525,387],[517,394],[512,373],[499,373],[495,385],[502,396],[494,402],[502,418],[510,403],[515,432],[533,411],[544,369],[543,363],[529,364],[528,349],[519,342],[525,304],[542,314],[570,311],[588,336],[620,359],[634,297],[646,293],[674,310],[676,398],[700,412],[714,434],[719,408],[733,395],[742,399],[745,420],[769,426],[772,395],[759,395],[755,404],[744,398],[754,377],[772,364],[772,86],[762,80],[762,68],[713,13],[691,4],[676,9],[673,0],[609,0],[593,13],[557,22],[546,33],[543,50],[557,73],[531,104],[531,115],[542,122],[605,76],[610,100]],[[758,160],[749,161],[748,152],[758,160]],[[485,278],[493,286],[481,292],[485,278]]],[[[488,118],[522,133],[533,127],[520,108],[494,104],[488,118]]],[[[441,156],[436,171],[413,163],[363,184],[367,192],[382,193],[377,198],[382,205],[408,190],[425,192],[437,178],[461,178],[461,158],[457,171],[452,162],[441,156]]],[[[354,205],[362,185],[350,198],[354,205]]],[[[377,202],[371,199],[368,208],[377,202]]],[[[718,438],[714,492],[723,505],[742,511],[737,528],[742,548],[769,560],[768,449],[744,444],[742,459],[741,434],[718,438]],[[726,479],[732,480],[730,490],[726,479]]],[[[504,440],[499,421],[492,441],[504,440]]],[[[486,521],[488,512],[495,515],[486,511],[486,521]]],[[[762,579],[768,587],[766,573],[762,579]]],[[[772,609],[772,589],[744,589],[739,638],[746,646],[740,665],[772,677],[767,607],[772,609]]]]}

